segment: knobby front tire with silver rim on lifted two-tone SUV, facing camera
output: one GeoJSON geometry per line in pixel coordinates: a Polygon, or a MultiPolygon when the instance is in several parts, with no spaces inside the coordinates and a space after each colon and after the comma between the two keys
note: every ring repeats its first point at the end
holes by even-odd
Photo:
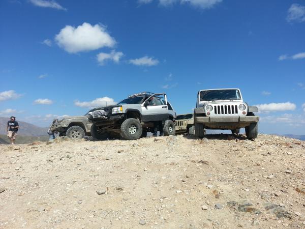
{"type": "Polygon", "coordinates": [[[120,127],[121,137],[126,140],[135,140],[142,135],[142,125],[137,119],[127,119],[120,127]]]}

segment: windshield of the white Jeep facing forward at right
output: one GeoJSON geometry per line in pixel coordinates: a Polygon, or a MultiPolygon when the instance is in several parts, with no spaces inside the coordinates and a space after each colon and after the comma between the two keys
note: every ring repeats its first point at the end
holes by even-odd
{"type": "Polygon", "coordinates": [[[239,90],[224,89],[224,90],[207,90],[200,92],[200,101],[211,100],[240,100],[239,90]]]}

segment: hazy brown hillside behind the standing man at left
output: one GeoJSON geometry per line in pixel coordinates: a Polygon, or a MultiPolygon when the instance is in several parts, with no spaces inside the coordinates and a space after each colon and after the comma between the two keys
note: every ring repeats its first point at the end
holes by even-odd
{"type": "MultiPolygon", "coordinates": [[[[6,134],[7,123],[10,119],[5,117],[0,117],[0,134],[6,134]]],[[[19,135],[25,136],[42,136],[47,135],[48,127],[38,127],[30,123],[22,122],[17,119],[20,126],[18,130],[19,135]]]]}

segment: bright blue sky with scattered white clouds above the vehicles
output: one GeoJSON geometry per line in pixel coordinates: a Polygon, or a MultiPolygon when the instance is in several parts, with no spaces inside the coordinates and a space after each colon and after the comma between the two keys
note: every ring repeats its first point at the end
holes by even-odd
{"type": "Polygon", "coordinates": [[[240,88],[260,132],[305,134],[304,40],[298,0],[3,0],[0,116],[48,126],[141,91],[187,113],[240,88]]]}

